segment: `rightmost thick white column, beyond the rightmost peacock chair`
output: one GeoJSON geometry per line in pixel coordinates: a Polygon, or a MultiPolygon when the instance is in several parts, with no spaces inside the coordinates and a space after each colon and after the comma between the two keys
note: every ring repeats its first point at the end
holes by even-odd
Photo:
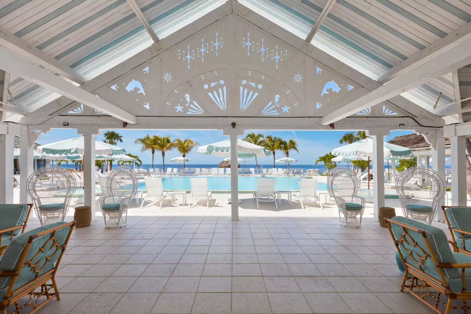
{"type": "Polygon", "coordinates": [[[464,136],[450,137],[451,140],[451,204],[466,206],[466,145],[464,136]]]}

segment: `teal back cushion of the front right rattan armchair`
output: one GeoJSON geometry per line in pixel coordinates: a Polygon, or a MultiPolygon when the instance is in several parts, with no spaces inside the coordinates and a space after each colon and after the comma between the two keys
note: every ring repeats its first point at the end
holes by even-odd
{"type": "MultiPolygon", "coordinates": [[[[455,254],[452,252],[448,245],[448,239],[446,234],[443,230],[431,226],[422,224],[421,222],[406,218],[396,216],[393,217],[392,220],[398,221],[402,224],[409,225],[411,227],[420,229],[425,231],[427,235],[427,239],[430,242],[430,246],[437,257],[439,263],[443,264],[453,264],[456,263],[455,254]]],[[[439,272],[437,267],[435,266],[435,262],[430,258],[431,252],[428,250],[427,244],[425,242],[425,238],[422,236],[421,233],[418,233],[412,229],[406,228],[406,233],[404,232],[402,226],[397,224],[391,224],[392,232],[396,240],[398,240],[401,244],[399,245],[399,249],[401,250],[402,256],[406,260],[407,263],[410,265],[419,268],[419,264],[422,264],[422,269],[424,273],[429,274],[430,276],[436,278],[437,280],[441,281],[439,272]],[[414,245],[414,243],[416,243],[414,245]],[[409,254],[409,251],[411,252],[409,254]],[[429,256],[425,258],[424,253],[429,256]],[[411,256],[412,254],[412,256],[411,256]],[[423,259],[422,259],[423,258],[423,259]]],[[[460,273],[455,268],[442,268],[443,274],[447,278],[447,281],[450,282],[459,282],[461,281],[460,273]]],[[[450,284],[451,288],[451,284],[450,284]]],[[[460,292],[460,289],[457,289],[458,286],[454,286],[453,292],[460,292]]]]}

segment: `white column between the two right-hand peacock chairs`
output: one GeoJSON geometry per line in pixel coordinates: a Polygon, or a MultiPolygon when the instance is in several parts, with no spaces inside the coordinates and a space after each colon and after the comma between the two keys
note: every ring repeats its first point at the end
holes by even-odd
{"type": "Polygon", "coordinates": [[[389,130],[372,129],[373,136],[373,217],[378,221],[380,207],[384,207],[384,136],[389,130]]]}

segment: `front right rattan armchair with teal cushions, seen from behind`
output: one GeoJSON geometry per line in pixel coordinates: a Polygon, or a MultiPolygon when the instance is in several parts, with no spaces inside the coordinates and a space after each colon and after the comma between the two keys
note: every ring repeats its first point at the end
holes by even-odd
{"type": "Polygon", "coordinates": [[[451,309],[471,309],[471,257],[452,252],[443,230],[406,217],[385,218],[391,237],[405,268],[401,291],[435,313],[449,314],[451,309]],[[444,302],[442,299],[447,299],[444,302]],[[461,299],[463,306],[453,300],[461,299]]]}

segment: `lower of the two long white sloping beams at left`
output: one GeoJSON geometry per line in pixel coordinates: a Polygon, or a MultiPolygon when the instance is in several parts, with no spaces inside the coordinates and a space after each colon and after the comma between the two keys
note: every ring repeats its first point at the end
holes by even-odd
{"type": "Polygon", "coordinates": [[[69,83],[56,75],[41,69],[7,48],[0,46],[0,68],[32,81],[42,87],[55,91],[83,105],[98,109],[122,121],[136,123],[136,117],[121,108],[69,83]]]}

